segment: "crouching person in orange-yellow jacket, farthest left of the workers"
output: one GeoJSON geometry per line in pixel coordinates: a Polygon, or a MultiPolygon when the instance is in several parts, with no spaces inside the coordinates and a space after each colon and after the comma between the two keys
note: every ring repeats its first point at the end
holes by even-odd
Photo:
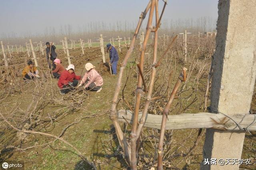
{"type": "Polygon", "coordinates": [[[22,71],[23,80],[34,80],[35,78],[40,78],[38,73],[37,68],[33,66],[33,62],[30,60],[28,65],[22,71]]]}

